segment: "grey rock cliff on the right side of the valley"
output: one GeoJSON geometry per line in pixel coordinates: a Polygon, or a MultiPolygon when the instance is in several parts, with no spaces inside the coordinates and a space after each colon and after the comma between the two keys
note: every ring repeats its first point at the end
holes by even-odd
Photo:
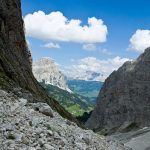
{"type": "Polygon", "coordinates": [[[150,125],[150,48],[106,79],[86,125],[97,130],[150,125]]]}

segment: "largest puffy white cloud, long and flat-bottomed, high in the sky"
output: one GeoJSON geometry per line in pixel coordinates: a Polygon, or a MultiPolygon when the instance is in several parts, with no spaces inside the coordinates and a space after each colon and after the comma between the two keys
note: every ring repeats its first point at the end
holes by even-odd
{"type": "Polygon", "coordinates": [[[26,15],[24,21],[26,35],[42,40],[101,43],[107,37],[107,26],[95,17],[88,18],[87,25],[81,25],[81,20],[69,20],[59,11],[50,14],[38,11],[26,15]]]}

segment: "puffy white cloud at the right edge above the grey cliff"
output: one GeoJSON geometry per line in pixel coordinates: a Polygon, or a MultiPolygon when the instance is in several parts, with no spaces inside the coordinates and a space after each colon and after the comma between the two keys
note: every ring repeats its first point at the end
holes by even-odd
{"type": "Polygon", "coordinates": [[[143,52],[150,47],[150,30],[137,30],[130,38],[129,49],[143,52]]]}

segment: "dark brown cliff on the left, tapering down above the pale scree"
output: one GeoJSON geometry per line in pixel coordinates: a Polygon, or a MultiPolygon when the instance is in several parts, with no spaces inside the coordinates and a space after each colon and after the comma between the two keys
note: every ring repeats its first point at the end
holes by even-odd
{"type": "Polygon", "coordinates": [[[31,65],[20,0],[0,0],[0,88],[13,92],[17,89],[18,94],[30,93],[30,101],[45,101],[63,117],[77,122],[38,84],[31,65]]]}

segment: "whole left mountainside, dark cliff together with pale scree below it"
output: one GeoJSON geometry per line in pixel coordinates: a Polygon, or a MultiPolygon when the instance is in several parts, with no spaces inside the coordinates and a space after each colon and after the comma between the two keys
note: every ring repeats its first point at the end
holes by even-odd
{"type": "Polygon", "coordinates": [[[32,74],[20,0],[0,0],[0,149],[127,149],[72,121],[32,74]]]}

